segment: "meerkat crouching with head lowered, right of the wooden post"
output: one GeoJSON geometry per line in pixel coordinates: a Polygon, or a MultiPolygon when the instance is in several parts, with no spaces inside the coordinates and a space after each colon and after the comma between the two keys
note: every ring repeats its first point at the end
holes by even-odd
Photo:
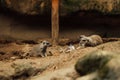
{"type": "Polygon", "coordinates": [[[99,35],[91,35],[91,36],[81,35],[79,46],[82,46],[82,47],[96,46],[102,43],[103,43],[103,40],[99,35]]]}

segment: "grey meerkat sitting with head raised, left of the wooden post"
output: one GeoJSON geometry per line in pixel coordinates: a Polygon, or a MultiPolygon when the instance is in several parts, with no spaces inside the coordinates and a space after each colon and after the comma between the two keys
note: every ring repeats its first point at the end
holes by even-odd
{"type": "Polygon", "coordinates": [[[33,56],[46,57],[47,56],[46,50],[47,50],[47,47],[49,46],[50,46],[50,43],[48,41],[45,41],[45,40],[41,41],[40,44],[37,44],[33,47],[31,54],[33,56]]]}

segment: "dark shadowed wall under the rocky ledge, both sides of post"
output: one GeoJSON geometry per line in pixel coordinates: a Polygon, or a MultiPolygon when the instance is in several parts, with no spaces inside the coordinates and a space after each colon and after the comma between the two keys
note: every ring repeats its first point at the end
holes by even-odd
{"type": "MultiPolygon", "coordinates": [[[[120,37],[120,16],[101,15],[80,11],[60,16],[60,38],[78,38],[79,35],[99,34],[102,37],[120,37]]],[[[0,13],[0,37],[33,40],[51,38],[51,18],[40,15],[0,13]]]]}

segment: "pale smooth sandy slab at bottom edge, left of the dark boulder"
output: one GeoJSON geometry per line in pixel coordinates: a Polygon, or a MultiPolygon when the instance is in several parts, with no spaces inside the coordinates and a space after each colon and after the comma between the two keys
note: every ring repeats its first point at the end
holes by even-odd
{"type": "Polygon", "coordinates": [[[75,80],[78,77],[74,70],[74,67],[59,69],[50,73],[46,73],[45,76],[35,76],[30,80],[75,80]]]}

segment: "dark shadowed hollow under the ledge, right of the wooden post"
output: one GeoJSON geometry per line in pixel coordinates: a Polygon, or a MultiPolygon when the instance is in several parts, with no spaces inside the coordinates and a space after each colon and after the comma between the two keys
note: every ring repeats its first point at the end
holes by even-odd
{"type": "Polygon", "coordinates": [[[97,12],[79,12],[60,18],[60,37],[78,38],[79,35],[98,34],[105,38],[120,37],[120,16],[97,12]]]}

